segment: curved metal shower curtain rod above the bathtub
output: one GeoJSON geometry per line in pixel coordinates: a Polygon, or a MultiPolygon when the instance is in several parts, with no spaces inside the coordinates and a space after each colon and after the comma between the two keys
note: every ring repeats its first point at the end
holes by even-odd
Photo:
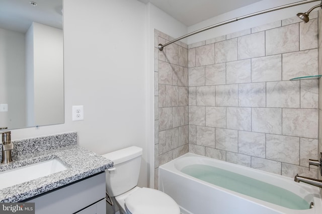
{"type": "Polygon", "coordinates": [[[273,12],[273,11],[277,11],[277,10],[281,10],[281,9],[284,9],[284,8],[290,8],[290,7],[293,7],[293,6],[298,6],[298,5],[303,5],[303,4],[307,4],[307,3],[311,3],[311,2],[317,2],[317,1],[321,1],[321,4],[318,5],[318,6],[315,6],[313,8],[311,8],[310,10],[313,10],[314,8],[317,8],[319,6],[322,7],[322,0],[305,0],[305,1],[301,1],[301,2],[296,2],[296,3],[291,3],[291,4],[288,4],[288,5],[283,5],[283,6],[279,6],[279,7],[276,7],[276,8],[271,8],[271,9],[267,9],[267,10],[264,10],[264,11],[259,11],[259,12],[256,12],[256,13],[252,13],[252,14],[249,14],[249,15],[245,15],[245,16],[241,16],[241,17],[238,17],[238,18],[234,18],[234,19],[230,19],[230,20],[227,20],[227,21],[224,21],[224,22],[220,22],[218,24],[214,24],[214,25],[210,25],[208,27],[205,27],[205,28],[202,28],[200,30],[197,30],[197,31],[194,31],[194,32],[191,32],[189,34],[186,34],[184,36],[181,36],[177,39],[174,39],[164,45],[162,44],[158,44],[158,49],[160,51],[163,50],[164,47],[166,47],[167,45],[170,45],[174,42],[177,42],[181,39],[184,39],[186,37],[189,37],[189,36],[192,36],[192,35],[195,35],[197,33],[200,33],[200,32],[203,32],[203,31],[206,31],[206,30],[209,30],[209,29],[212,29],[212,28],[215,28],[215,27],[218,27],[218,26],[221,26],[221,25],[225,25],[225,24],[228,24],[228,23],[231,23],[231,22],[236,22],[238,20],[241,20],[241,19],[246,19],[246,18],[250,18],[250,17],[253,17],[253,16],[257,16],[257,15],[260,15],[260,14],[265,14],[265,13],[269,13],[269,12],[273,12]]]}

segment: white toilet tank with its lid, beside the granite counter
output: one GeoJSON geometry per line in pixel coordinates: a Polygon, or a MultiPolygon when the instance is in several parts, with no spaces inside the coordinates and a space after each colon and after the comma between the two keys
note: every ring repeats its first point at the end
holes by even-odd
{"type": "Polygon", "coordinates": [[[114,163],[115,170],[106,170],[106,190],[118,196],[137,185],[141,166],[142,148],[131,146],[102,155],[114,163]]]}

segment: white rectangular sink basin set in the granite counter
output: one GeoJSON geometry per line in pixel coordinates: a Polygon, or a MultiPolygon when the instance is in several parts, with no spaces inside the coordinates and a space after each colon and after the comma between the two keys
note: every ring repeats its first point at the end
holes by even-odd
{"type": "Polygon", "coordinates": [[[0,172],[0,189],[67,169],[59,160],[51,159],[0,172]]]}

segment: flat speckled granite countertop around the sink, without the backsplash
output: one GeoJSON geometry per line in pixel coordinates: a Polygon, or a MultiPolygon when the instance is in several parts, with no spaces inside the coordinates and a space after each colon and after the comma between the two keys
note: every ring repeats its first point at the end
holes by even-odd
{"type": "MultiPolygon", "coordinates": [[[[112,168],[113,162],[78,145],[68,145],[34,154],[19,155],[9,164],[0,164],[2,171],[50,159],[61,161],[66,170],[45,177],[0,189],[0,202],[19,202],[55,188],[112,168]]],[[[22,175],[23,176],[23,175],[22,175]]]]}

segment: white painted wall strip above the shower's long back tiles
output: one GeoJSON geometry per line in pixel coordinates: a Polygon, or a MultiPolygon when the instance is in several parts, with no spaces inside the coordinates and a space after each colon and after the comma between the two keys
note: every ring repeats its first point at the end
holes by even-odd
{"type": "MultiPolygon", "coordinates": [[[[219,15],[217,17],[213,17],[211,19],[205,20],[205,21],[200,22],[198,24],[189,26],[188,32],[193,32],[193,31],[202,29],[204,27],[208,27],[208,26],[220,23],[220,22],[230,20],[230,19],[234,19],[234,18],[238,18],[238,17],[245,16],[248,14],[256,13],[259,11],[279,7],[282,5],[291,4],[294,2],[299,2],[299,1],[263,0],[258,3],[252,4],[252,5],[249,5],[249,6],[246,6],[246,7],[243,7],[243,8],[228,12],[228,13],[224,13],[224,14],[219,15]]],[[[234,32],[238,32],[241,30],[245,30],[245,29],[249,29],[252,27],[271,23],[274,21],[287,19],[287,18],[296,16],[297,13],[304,13],[304,12],[308,11],[311,7],[318,5],[318,4],[319,4],[318,2],[313,2],[313,3],[309,3],[309,4],[304,4],[304,5],[300,5],[300,6],[295,6],[295,7],[291,7],[291,8],[287,8],[287,9],[282,9],[282,10],[258,15],[255,17],[239,20],[239,21],[227,24],[227,25],[219,26],[214,29],[204,31],[202,33],[199,33],[199,34],[189,37],[188,44],[192,44],[195,42],[215,38],[218,36],[222,36],[222,35],[226,35],[226,34],[230,34],[230,33],[234,33],[234,32]]]]}

